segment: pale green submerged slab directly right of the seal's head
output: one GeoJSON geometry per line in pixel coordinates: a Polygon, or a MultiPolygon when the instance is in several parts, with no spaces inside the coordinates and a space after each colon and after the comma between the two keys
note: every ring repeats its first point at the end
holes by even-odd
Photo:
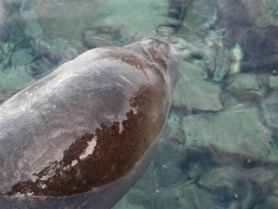
{"type": "Polygon", "coordinates": [[[173,92],[173,105],[196,111],[220,111],[220,86],[206,81],[204,62],[185,62],[173,92]]]}

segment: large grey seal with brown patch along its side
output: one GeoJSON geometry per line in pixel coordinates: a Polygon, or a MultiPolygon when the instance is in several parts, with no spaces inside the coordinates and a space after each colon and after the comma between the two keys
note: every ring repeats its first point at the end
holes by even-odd
{"type": "Polygon", "coordinates": [[[179,70],[156,38],[92,49],[0,105],[1,208],[111,208],[142,176],[179,70]]]}

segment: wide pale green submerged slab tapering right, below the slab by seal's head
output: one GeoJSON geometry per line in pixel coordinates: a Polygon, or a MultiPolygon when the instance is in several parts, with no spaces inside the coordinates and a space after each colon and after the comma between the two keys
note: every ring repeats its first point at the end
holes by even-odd
{"type": "Polygon", "coordinates": [[[259,123],[256,108],[187,116],[183,119],[183,128],[186,147],[212,146],[222,152],[277,159],[270,132],[259,123]]]}

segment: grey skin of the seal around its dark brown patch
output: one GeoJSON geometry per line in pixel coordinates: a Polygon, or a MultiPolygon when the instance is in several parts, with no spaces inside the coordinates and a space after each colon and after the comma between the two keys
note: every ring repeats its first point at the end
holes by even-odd
{"type": "Polygon", "coordinates": [[[113,183],[71,196],[33,196],[20,192],[7,196],[6,193],[16,183],[49,178],[50,171],[40,177],[34,173],[61,161],[64,150],[85,133],[95,134],[101,123],[109,126],[113,121],[126,120],[126,113],[132,110],[129,98],[139,88],[161,82],[167,88],[167,95],[158,100],[163,107],[158,114],[165,122],[178,68],[177,55],[170,46],[154,38],[117,49],[92,49],[3,102],[0,106],[1,207],[111,208],[147,169],[162,128],[154,134],[155,139],[133,169],[113,183]],[[136,56],[145,64],[145,70],[137,63],[124,62],[117,54],[136,56]],[[165,63],[167,69],[163,70],[165,63]]]}

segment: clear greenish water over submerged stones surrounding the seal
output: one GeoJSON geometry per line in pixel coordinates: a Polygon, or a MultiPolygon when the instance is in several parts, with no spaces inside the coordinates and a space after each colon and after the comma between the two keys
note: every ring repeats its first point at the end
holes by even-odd
{"type": "Polygon", "coordinates": [[[277,208],[276,1],[9,0],[6,8],[1,90],[107,45],[95,37],[120,46],[155,36],[178,50],[161,144],[114,208],[277,208]]]}

